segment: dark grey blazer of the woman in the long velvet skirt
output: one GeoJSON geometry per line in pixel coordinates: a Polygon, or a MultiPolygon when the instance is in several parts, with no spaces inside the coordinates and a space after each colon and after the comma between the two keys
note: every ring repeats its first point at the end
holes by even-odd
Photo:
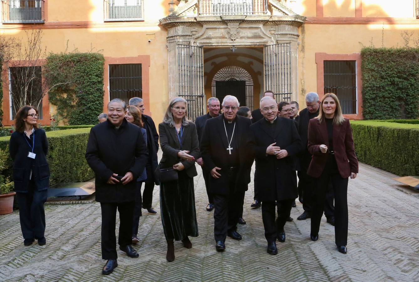
{"type": "Polygon", "coordinates": [[[158,125],[158,132],[160,133],[160,146],[163,151],[163,157],[160,160],[160,168],[170,168],[178,162],[181,162],[189,177],[197,176],[197,168],[195,168],[195,161],[181,160],[178,157],[180,150],[188,150],[189,155],[194,156],[195,160],[201,157],[199,153],[199,142],[197,129],[193,122],[189,122],[188,126],[183,126],[182,133],[182,148],[176,136],[176,128],[169,127],[168,124],[162,122],[158,125]]]}

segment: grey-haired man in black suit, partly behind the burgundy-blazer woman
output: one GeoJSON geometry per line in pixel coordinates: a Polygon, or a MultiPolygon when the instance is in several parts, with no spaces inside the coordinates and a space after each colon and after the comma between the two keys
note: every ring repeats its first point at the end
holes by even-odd
{"type": "MultiPolygon", "coordinates": [[[[305,95],[305,104],[307,108],[300,111],[300,122],[298,126],[298,133],[303,143],[303,151],[300,153],[300,171],[298,171],[298,191],[299,200],[303,203],[304,212],[297,217],[297,220],[305,220],[311,217],[311,210],[313,207],[313,189],[314,180],[307,174],[308,166],[311,162],[311,154],[308,151],[308,124],[310,119],[318,116],[320,109],[320,101],[317,93],[309,92],[305,95]]],[[[324,204],[324,214],[327,222],[334,225],[334,204],[333,204],[333,189],[329,184],[329,189],[326,194],[326,202],[324,204]]]]}

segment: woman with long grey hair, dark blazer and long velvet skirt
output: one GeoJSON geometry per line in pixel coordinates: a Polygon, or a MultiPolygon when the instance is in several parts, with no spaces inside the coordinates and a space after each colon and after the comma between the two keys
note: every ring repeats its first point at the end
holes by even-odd
{"type": "Polygon", "coordinates": [[[187,118],[187,102],[175,97],[170,102],[163,122],[158,125],[163,157],[159,168],[173,168],[178,179],[162,182],[160,177],[160,213],[167,241],[167,261],[175,259],[173,240],[192,248],[188,236],[198,236],[195,212],[195,160],[200,157],[197,129],[187,118]]]}

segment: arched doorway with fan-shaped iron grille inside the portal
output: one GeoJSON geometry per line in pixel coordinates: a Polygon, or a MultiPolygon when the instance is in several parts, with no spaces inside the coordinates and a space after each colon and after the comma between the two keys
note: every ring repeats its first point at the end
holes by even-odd
{"type": "Polygon", "coordinates": [[[253,111],[253,79],[247,70],[238,66],[227,66],[214,75],[211,96],[222,101],[226,95],[237,97],[240,106],[246,106],[253,111]]]}

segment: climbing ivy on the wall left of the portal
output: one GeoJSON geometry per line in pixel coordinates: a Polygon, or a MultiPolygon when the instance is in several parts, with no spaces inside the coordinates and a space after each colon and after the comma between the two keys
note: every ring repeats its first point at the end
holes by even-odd
{"type": "Polygon", "coordinates": [[[70,125],[96,124],[103,110],[103,65],[99,53],[51,53],[43,75],[56,85],[49,102],[70,125]]]}

